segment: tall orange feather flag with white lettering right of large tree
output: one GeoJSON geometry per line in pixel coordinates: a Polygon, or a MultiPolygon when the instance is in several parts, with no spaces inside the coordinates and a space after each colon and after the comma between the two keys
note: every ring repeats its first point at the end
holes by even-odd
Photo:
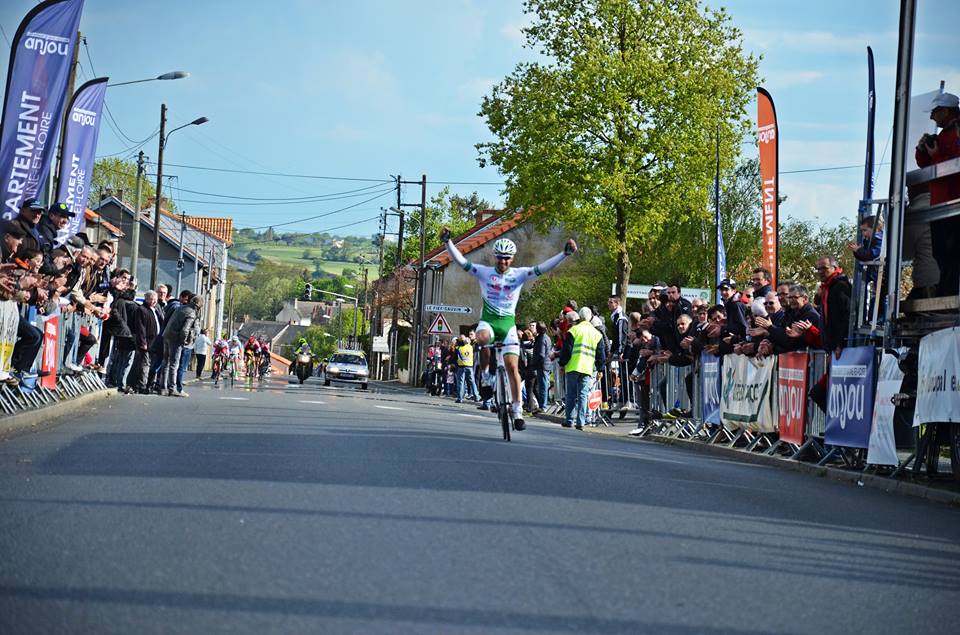
{"type": "Polygon", "coordinates": [[[773,106],[773,97],[762,88],[757,89],[757,140],[760,146],[760,192],[762,212],[760,228],[763,266],[773,272],[771,285],[776,286],[777,250],[779,247],[779,166],[780,155],[777,131],[777,109],[773,106]]]}

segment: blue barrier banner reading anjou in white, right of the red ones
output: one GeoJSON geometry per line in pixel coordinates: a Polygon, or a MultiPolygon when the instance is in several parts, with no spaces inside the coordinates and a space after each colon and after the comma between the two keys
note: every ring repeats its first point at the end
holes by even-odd
{"type": "Polygon", "coordinates": [[[829,400],[824,441],[828,445],[866,448],[873,421],[876,349],[845,348],[831,360],[829,400]]]}

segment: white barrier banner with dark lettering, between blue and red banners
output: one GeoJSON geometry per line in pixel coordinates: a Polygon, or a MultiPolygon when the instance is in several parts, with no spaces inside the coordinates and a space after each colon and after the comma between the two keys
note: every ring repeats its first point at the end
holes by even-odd
{"type": "Polygon", "coordinates": [[[724,425],[753,432],[776,431],[776,391],[773,387],[776,366],[776,357],[725,356],[720,399],[720,417],[724,425]]]}

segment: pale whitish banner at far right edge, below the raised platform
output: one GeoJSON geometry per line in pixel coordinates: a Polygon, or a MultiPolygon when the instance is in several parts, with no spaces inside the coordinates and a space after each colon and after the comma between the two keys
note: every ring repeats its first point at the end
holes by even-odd
{"type": "Polygon", "coordinates": [[[920,340],[913,425],[946,421],[960,423],[960,327],[956,326],[920,340]]]}

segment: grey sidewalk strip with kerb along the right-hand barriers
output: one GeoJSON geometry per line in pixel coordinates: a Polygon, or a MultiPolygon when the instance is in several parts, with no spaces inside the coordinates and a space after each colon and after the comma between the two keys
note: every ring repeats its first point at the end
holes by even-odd
{"type": "MultiPolygon", "coordinates": [[[[387,385],[389,388],[394,390],[416,394],[420,397],[426,397],[428,399],[435,399],[437,401],[443,401],[453,406],[460,406],[461,408],[469,409],[473,411],[476,409],[476,402],[469,401],[463,404],[456,404],[452,398],[446,397],[431,397],[427,395],[423,388],[413,388],[406,384],[401,384],[397,381],[391,382],[376,382],[377,385],[383,386],[387,385]]],[[[548,415],[548,414],[538,414],[535,415],[536,419],[540,421],[547,421],[550,423],[555,423],[558,426],[563,423],[563,417],[548,415]]],[[[906,470],[904,475],[900,478],[892,479],[886,476],[881,476],[878,474],[867,474],[860,470],[851,470],[843,469],[839,467],[831,466],[817,466],[814,463],[805,463],[803,461],[793,461],[786,457],[782,456],[768,456],[766,454],[758,454],[756,452],[747,452],[740,448],[731,448],[723,445],[711,445],[703,443],[700,441],[691,441],[687,439],[678,439],[676,437],[667,437],[660,435],[650,435],[646,437],[633,437],[628,434],[630,430],[634,427],[634,422],[629,421],[628,419],[614,420],[613,427],[607,426],[587,426],[583,429],[583,432],[589,434],[596,434],[606,437],[612,437],[620,441],[628,443],[660,443],[662,445],[672,445],[678,448],[684,448],[690,451],[703,452],[707,454],[712,454],[714,456],[724,456],[732,460],[737,461],[747,461],[750,463],[770,465],[778,467],[784,470],[791,470],[794,472],[802,472],[805,474],[811,474],[819,477],[830,478],[835,481],[846,482],[856,484],[859,487],[869,487],[872,489],[879,489],[885,492],[895,492],[898,494],[903,494],[906,496],[914,496],[917,498],[924,498],[930,501],[936,501],[939,503],[946,503],[948,505],[960,506],[960,484],[957,484],[950,480],[937,480],[934,482],[927,481],[925,477],[921,479],[914,480],[912,473],[909,470],[906,470]]],[[[582,434],[580,431],[573,429],[571,433],[582,434]]]]}

